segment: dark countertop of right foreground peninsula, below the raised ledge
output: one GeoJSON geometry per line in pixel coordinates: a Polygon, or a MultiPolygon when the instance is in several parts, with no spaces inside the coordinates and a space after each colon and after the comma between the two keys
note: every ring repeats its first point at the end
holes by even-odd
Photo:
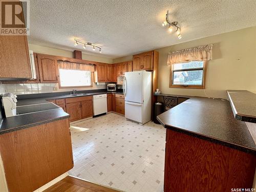
{"type": "Polygon", "coordinates": [[[256,153],[245,122],[234,119],[227,100],[191,97],[157,118],[167,129],[256,153]]]}

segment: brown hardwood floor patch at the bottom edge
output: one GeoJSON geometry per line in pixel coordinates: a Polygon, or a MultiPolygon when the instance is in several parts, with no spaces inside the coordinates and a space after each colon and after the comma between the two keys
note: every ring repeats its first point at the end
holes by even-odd
{"type": "Polygon", "coordinates": [[[48,189],[44,190],[44,192],[117,192],[118,190],[114,190],[108,187],[100,186],[94,183],[90,183],[81,179],[77,179],[74,177],[66,177],[56,184],[52,185],[48,189]]]}

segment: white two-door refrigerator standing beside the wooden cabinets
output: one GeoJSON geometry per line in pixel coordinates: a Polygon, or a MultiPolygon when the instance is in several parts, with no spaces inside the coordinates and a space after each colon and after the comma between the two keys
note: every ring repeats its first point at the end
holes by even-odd
{"type": "Polygon", "coordinates": [[[144,124],[151,120],[152,72],[124,73],[125,118],[144,124]]]}

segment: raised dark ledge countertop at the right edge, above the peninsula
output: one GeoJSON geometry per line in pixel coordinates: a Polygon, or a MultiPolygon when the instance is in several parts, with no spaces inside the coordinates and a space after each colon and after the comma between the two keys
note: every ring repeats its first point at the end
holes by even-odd
{"type": "Polygon", "coordinates": [[[228,90],[234,118],[256,123],[256,94],[245,90],[228,90]]]}

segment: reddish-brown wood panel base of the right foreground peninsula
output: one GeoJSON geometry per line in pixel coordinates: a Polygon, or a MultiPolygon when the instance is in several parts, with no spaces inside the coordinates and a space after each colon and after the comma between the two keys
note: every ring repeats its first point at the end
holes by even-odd
{"type": "Polygon", "coordinates": [[[168,129],[165,150],[165,192],[252,187],[252,154],[168,129]]]}

